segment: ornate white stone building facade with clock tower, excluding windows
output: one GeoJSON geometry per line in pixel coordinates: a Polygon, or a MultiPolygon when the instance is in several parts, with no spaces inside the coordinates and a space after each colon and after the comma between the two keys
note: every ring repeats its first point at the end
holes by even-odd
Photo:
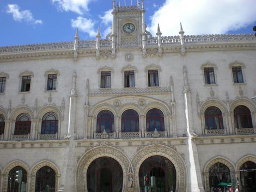
{"type": "MultiPolygon", "coordinates": [[[[123,169],[122,191],[139,192],[139,168],[151,156],[170,160],[176,169],[176,191],[210,192],[209,169],[223,163],[231,182],[240,179],[243,163],[256,163],[256,38],[254,35],[194,35],[152,37],[145,29],[144,8],[113,5],[112,33],[107,39],[0,47],[0,191],[8,189],[15,166],[27,172],[27,190],[35,191],[36,172],[50,166],[55,191],[88,191],[88,166],[111,157],[123,169]],[[125,23],[135,32],[125,34],[125,23]],[[242,69],[236,83],[233,67],[242,69]],[[205,68],[214,69],[215,82],[205,82],[205,68]],[[158,86],[149,86],[148,71],[158,72],[158,86]],[[134,87],[125,88],[125,71],[134,72],[134,87]],[[110,72],[110,88],[101,88],[101,72],[110,72]],[[57,75],[56,90],[47,90],[48,75],[57,75]],[[22,77],[30,76],[29,91],[22,77]],[[234,110],[246,106],[252,126],[237,128],[234,110]],[[207,129],[205,110],[222,112],[223,129],[207,129]],[[138,132],[122,132],[127,109],[139,115],[138,132]],[[147,113],[159,109],[164,131],[147,132],[147,113]],[[97,133],[97,115],[109,110],[114,131],[97,133]],[[42,118],[58,117],[58,132],[41,134],[42,118]],[[17,117],[31,117],[31,131],[15,134],[17,117]],[[128,188],[129,174],[134,178],[128,188]]],[[[211,76],[212,78],[212,76],[211,76]]],[[[240,181],[240,180],[239,180],[240,181]]],[[[241,183],[241,181],[240,181],[241,183]]],[[[114,191],[115,192],[115,191],[114,191]]]]}

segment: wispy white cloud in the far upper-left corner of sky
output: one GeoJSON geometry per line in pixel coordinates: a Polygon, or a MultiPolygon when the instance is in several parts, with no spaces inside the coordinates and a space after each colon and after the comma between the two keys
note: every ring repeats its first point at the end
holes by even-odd
{"type": "Polygon", "coordinates": [[[23,10],[20,11],[20,8],[16,4],[8,4],[7,13],[13,14],[14,21],[25,21],[32,24],[42,24],[42,20],[35,20],[31,11],[23,10]]]}

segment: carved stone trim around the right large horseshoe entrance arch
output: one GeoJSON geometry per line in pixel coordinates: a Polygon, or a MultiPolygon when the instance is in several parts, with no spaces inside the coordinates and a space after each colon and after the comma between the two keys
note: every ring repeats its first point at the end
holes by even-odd
{"type": "Polygon", "coordinates": [[[151,156],[163,156],[169,159],[176,169],[176,191],[186,192],[187,168],[184,159],[173,148],[165,145],[151,145],[139,150],[132,158],[132,166],[135,171],[135,187],[139,189],[139,168],[145,159],[151,156]]]}

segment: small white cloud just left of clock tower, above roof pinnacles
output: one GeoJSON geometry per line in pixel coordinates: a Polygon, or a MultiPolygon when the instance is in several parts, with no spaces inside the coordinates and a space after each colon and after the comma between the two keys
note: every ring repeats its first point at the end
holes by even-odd
{"type": "Polygon", "coordinates": [[[87,19],[84,17],[77,17],[76,20],[71,20],[71,26],[74,28],[78,28],[78,30],[88,33],[90,37],[96,36],[96,32],[94,31],[95,21],[91,19],[87,19]]]}

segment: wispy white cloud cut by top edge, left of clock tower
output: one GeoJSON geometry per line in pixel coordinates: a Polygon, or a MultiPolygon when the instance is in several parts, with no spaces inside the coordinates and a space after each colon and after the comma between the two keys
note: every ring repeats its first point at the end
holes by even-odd
{"type": "Polygon", "coordinates": [[[88,11],[88,4],[92,0],[52,0],[60,11],[72,11],[82,15],[88,11]]]}

